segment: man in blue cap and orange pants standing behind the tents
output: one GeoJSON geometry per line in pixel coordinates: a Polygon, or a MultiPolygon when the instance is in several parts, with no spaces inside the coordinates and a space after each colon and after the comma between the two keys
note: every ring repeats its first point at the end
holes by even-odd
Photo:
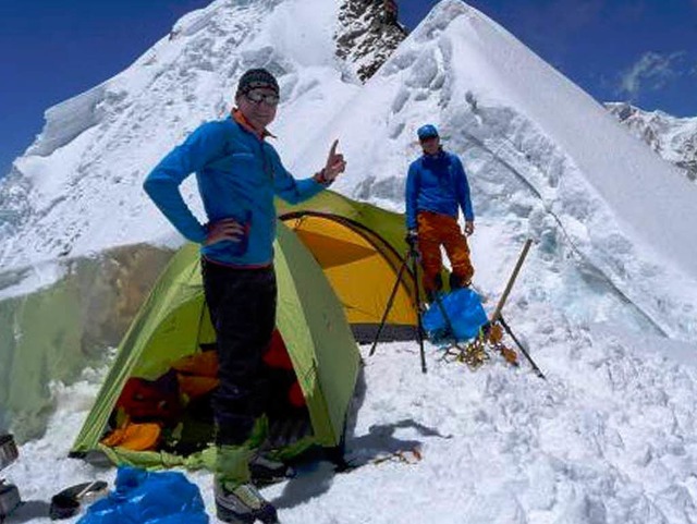
{"type": "Polygon", "coordinates": [[[424,290],[429,300],[441,287],[441,245],[452,266],[451,289],[467,287],[475,272],[466,235],[475,231],[467,175],[456,155],[444,151],[435,125],[418,129],[424,155],[412,162],[406,178],[407,242],[418,245],[424,269],[424,290]],[[464,234],[457,224],[465,216],[464,234]]]}

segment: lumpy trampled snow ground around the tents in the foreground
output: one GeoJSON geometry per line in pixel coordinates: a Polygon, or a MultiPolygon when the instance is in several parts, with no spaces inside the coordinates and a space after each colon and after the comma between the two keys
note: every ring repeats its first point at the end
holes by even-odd
{"type": "MultiPolygon", "coordinates": [[[[423,460],[339,475],[329,463],[308,466],[264,490],[282,522],[696,522],[697,371],[656,351],[663,344],[658,339],[572,326],[545,306],[534,313],[535,321],[523,321],[514,309],[509,322],[546,381],[526,366],[512,369],[499,361],[473,373],[440,361],[430,344],[423,375],[415,343],[380,344],[372,357],[364,348],[365,388],[348,459],[418,447],[423,460]]],[[[3,472],[30,501],[9,523],[48,523],[25,520],[40,513],[38,501],[80,482],[113,483],[114,470],[65,458],[100,376],[90,371],[75,386],[57,387],[59,409],[47,436],[23,446],[3,472]]],[[[211,474],[187,476],[213,516],[211,474]]]]}

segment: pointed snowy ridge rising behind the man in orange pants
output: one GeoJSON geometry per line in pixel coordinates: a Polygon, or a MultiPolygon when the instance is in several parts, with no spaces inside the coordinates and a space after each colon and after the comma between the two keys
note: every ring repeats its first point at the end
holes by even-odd
{"type": "MultiPolygon", "coordinates": [[[[428,121],[463,157],[479,223],[501,235],[490,251],[489,231],[473,236],[476,263],[501,258],[505,275],[531,235],[540,241],[531,301],[585,320],[694,337],[697,245],[682,226],[697,221],[694,185],[505,29],[456,0],[441,2],[318,133],[351,137],[339,191],[401,209],[405,173],[418,156],[415,129],[428,121]],[[592,308],[580,306],[587,292],[598,301],[592,308]]],[[[310,150],[302,158],[319,160],[310,150]]]]}

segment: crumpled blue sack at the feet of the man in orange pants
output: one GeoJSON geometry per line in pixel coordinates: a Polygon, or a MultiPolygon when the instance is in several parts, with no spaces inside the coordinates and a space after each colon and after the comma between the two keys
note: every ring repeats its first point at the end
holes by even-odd
{"type": "Polygon", "coordinates": [[[481,297],[468,288],[443,294],[439,300],[452,324],[454,333],[448,329],[441,308],[433,302],[421,318],[424,329],[433,341],[452,334],[458,341],[474,339],[479,334],[479,329],[489,321],[481,305],[481,297]]]}

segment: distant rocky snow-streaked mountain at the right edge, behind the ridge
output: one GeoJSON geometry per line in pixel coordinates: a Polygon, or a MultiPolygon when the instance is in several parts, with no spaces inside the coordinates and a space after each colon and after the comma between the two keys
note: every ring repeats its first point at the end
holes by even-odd
{"type": "Polygon", "coordinates": [[[697,180],[697,118],[678,119],[626,102],[608,102],[606,107],[634,136],[682,169],[689,180],[697,180]]]}

